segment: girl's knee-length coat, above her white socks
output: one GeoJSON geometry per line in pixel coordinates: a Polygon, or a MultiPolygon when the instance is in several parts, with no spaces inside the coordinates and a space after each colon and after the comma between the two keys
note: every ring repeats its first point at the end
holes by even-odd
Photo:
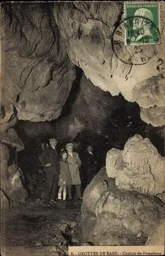
{"type": "Polygon", "coordinates": [[[68,186],[72,184],[72,178],[70,175],[69,165],[67,160],[60,161],[60,176],[59,176],[59,186],[68,186]],[[62,180],[60,180],[62,178],[62,180]],[[64,181],[66,181],[64,183],[64,181]]]}

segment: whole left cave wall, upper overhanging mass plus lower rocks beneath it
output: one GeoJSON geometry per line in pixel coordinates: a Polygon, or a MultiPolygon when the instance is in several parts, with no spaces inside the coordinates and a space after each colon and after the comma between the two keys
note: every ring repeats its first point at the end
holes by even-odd
{"type": "Polygon", "coordinates": [[[1,5],[1,189],[4,198],[19,202],[28,192],[16,159],[24,145],[13,126],[17,120],[58,118],[75,79],[74,64],[51,7],[42,3],[1,5]]]}

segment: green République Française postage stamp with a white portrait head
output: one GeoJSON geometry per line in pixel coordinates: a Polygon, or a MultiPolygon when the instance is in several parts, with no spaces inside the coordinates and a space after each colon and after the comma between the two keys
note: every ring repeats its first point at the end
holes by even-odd
{"type": "Polygon", "coordinates": [[[126,45],[160,43],[159,2],[125,2],[126,45]]]}

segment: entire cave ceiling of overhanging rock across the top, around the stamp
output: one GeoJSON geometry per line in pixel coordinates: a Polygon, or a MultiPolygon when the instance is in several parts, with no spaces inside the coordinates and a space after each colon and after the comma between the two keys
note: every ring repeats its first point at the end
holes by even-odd
{"type": "MultiPolygon", "coordinates": [[[[164,3],[160,5],[164,16],[164,3]]],[[[57,119],[75,80],[75,65],[102,91],[137,102],[146,123],[164,125],[165,42],[144,46],[146,55],[154,53],[145,65],[122,62],[114,54],[112,36],[123,18],[121,2],[3,3],[4,130],[15,115],[33,122],[57,119]]],[[[163,19],[160,34],[162,38],[163,19]]]]}

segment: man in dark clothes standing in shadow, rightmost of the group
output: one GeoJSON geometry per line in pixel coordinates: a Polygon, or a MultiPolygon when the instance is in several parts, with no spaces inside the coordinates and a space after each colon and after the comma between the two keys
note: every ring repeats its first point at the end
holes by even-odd
{"type": "Polygon", "coordinates": [[[84,155],[84,167],[87,174],[87,184],[89,184],[93,177],[97,174],[97,164],[98,157],[93,152],[92,146],[88,146],[86,154],[84,155]]]}

